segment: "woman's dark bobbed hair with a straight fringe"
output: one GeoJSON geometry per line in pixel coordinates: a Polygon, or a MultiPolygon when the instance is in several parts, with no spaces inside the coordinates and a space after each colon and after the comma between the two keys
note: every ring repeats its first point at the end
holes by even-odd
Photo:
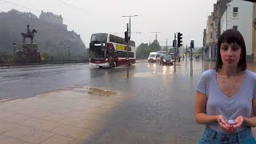
{"type": "Polygon", "coordinates": [[[218,48],[217,48],[217,61],[215,65],[216,71],[218,69],[222,68],[222,57],[221,57],[221,45],[222,42],[227,43],[236,43],[239,46],[241,46],[241,55],[240,60],[238,62],[238,70],[246,70],[247,64],[246,64],[246,44],[245,40],[242,38],[242,34],[238,30],[230,29],[224,31],[222,35],[218,38],[218,48]]]}

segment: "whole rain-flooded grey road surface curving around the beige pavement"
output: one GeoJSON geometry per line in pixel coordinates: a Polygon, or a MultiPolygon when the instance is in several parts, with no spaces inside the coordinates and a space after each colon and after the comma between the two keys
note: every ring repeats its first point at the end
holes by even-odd
{"type": "MultiPolygon", "coordinates": [[[[88,64],[6,69],[0,72],[1,98],[26,98],[68,86],[95,86],[129,95],[112,111],[108,125],[87,143],[197,143],[203,126],[194,122],[194,89],[202,71],[214,62],[190,61],[174,66],[136,63],[113,69],[88,64]]],[[[254,63],[249,69],[255,71],[254,63]]]]}

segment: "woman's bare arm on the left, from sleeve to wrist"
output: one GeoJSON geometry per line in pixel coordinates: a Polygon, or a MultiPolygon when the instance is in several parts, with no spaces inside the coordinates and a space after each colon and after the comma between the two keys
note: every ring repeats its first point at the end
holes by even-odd
{"type": "Polygon", "coordinates": [[[209,124],[217,122],[218,115],[207,115],[206,114],[206,94],[201,92],[195,92],[195,109],[194,118],[198,124],[209,124]]]}

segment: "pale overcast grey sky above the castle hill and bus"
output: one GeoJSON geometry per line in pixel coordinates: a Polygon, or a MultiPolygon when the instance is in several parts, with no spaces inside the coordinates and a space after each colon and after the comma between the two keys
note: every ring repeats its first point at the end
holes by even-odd
{"type": "MultiPolygon", "coordinates": [[[[131,18],[131,39],[138,46],[142,42],[153,42],[160,32],[158,42],[172,45],[174,33],[183,34],[183,46],[202,46],[203,29],[207,16],[214,9],[217,0],[0,0],[0,11],[16,9],[32,12],[39,17],[41,10],[62,14],[68,30],[81,35],[86,47],[90,35],[98,32],[124,33],[129,18],[123,15],[138,14],[131,18]]],[[[124,37],[124,34],[117,34],[124,37]]]]}

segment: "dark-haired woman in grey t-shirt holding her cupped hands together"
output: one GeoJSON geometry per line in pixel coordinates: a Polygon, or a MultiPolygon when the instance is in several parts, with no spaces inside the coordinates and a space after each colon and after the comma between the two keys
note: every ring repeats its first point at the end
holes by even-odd
{"type": "Polygon", "coordinates": [[[216,67],[196,87],[195,121],[206,125],[199,143],[254,142],[256,74],[246,67],[242,34],[226,30],[218,39],[216,67]]]}

